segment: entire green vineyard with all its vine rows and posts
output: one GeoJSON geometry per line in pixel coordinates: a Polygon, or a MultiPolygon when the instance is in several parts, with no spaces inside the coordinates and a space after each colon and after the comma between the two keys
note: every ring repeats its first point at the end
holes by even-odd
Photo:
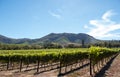
{"type": "Polygon", "coordinates": [[[18,72],[34,69],[34,74],[58,69],[58,76],[79,67],[89,65],[90,76],[95,76],[119,49],[101,47],[73,49],[41,50],[0,50],[0,70],[17,70],[18,72]]]}

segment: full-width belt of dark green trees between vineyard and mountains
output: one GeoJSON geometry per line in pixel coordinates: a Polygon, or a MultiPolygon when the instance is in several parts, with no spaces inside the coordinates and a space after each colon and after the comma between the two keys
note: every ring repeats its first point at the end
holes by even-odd
{"type": "Polygon", "coordinates": [[[90,46],[100,46],[100,47],[120,47],[120,40],[112,40],[112,41],[99,41],[94,44],[85,44],[84,40],[82,44],[58,44],[58,43],[45,43],[40,45],[28,45],[28,44],[2,44],[0,43],[0,50],[17,50],[17,49],[50,49],[50,48],[89,48],[90,46]]]}

